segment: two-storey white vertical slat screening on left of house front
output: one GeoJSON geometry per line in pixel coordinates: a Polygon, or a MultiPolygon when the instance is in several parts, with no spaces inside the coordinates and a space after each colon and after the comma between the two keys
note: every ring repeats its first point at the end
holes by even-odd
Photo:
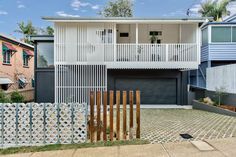
{"type": "Polygon", "coordinates": [[[90,91],[107,89],[104,61],[105,53],[113,59],[112,28],[113,24],[55,24],[55,103],[89,103],[90,91]]]}

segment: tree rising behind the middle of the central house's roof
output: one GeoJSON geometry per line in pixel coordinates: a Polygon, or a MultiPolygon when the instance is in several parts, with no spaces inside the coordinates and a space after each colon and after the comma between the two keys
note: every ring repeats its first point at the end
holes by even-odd
{"type": "Polygon", "coordinates": [[[133,2],[132,0],[109,1],[99,14],[104,17],[132,17],[133,2]]]}

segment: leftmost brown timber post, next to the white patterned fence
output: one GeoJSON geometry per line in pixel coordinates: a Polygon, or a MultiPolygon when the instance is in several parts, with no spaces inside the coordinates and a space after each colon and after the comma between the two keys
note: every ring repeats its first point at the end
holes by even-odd
{"type": "Polygon", "coordinates": [[[90,141],[94,142],[94,92],[90,92],[90,141]]]}

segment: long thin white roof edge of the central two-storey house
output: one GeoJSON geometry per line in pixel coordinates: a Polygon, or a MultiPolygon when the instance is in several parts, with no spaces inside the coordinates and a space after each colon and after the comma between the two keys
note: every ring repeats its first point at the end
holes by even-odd
{"type": "Polygon", "coordinates": [[[45,16],[42,19],[52,22],[117,22],[117,23],[142,23],[142,22],[196,22],[202,23],[209,18],[202,17],[61,17],[45,16]]]}

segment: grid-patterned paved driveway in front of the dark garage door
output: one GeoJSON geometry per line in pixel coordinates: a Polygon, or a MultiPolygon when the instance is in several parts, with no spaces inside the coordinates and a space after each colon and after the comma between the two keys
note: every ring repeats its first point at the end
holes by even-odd
{"type": "Polygon", "coordinates": [[[141,138],[151,143],[236,137],[236,118],[211,112],[184,109],[142,109],[141,138]]]}

